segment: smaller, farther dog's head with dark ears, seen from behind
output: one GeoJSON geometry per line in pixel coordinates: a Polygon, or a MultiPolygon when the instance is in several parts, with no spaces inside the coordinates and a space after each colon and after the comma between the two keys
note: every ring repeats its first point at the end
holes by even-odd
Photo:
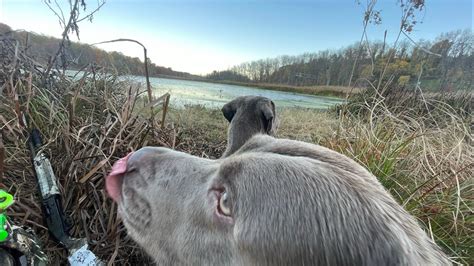
{"type": "Polygon", "coordinates": [[[222,157],[237,151],[256,134],[274,135],[278,126],[275,104],[265,97],[237,97],[222,107],[222,114],[230,122],[222,157]]]}

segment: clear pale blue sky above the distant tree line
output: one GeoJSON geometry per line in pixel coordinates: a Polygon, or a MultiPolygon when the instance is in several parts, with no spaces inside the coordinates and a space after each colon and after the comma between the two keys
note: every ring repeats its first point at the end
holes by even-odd
{"type": "MultiPolygon", "coordinates": [[[[54,0],[49,0],[54,4],[54,0]]],[[[56,0],[65,15],[68,0],[56,0]]],[[[79,24],[80,41],[117,38],[142,42],[160,66],[193,74],[225,70],[242,62],[279,55],[336,50],[356,43],[362,34],[367,0],[107,0],[92,22],[79,24]]],[[[60,37],[62,29],[41,0],[0,0],[0,22],[60,37]]],[[[91,10],[97,0],[86,0],[91,10]]],[[[382,24],[370,26],[370,40],[393,41],[400,25],[398,0],[379,0],[382,24]]],[[[440,33],[473,28],[472,0],[426,0],[422,24],[411,37],[432,40],[440,33]]],[[[72,38],[77,40],[77,38],[72,38]]],[[[101,44],[107,51],[143,57],[132,43],[101,44]]]]}

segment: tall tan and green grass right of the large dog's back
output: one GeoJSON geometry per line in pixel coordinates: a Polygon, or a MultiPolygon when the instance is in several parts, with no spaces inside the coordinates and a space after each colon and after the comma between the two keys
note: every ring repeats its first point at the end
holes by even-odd
{"type": "Polygon", "coordinates": [[[364,165],[455,262],[472,265],[474,118],[472,94],[462,95],[354,100],[322,145],[364,165]]]}

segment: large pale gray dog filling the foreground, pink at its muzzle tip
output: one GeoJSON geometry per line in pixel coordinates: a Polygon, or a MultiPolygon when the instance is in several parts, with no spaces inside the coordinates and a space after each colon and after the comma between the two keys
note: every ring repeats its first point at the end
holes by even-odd
{"type": "Polygon", "coordinates": [[[351,159],[256,135],[209,160],[146,147],[107,178],[128,234],[158,265],[446,265],[351,159]]]}

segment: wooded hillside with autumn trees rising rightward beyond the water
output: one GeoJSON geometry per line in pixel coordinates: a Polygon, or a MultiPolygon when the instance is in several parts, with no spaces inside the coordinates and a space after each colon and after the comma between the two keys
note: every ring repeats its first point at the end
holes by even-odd
{"type": "Polygon", "coordinates": [[[471,30],[458,30],[416,45],[409,40],[397,47],[371,42],[336,51],[245,62],[226,71],[214,71],[207,78],[294,86],[347,86],[352,75],[352,85],[367,86],[383,76],[400,86],[420,82],[433,90],[470,89],[474,80],[473,44],[471,30]],[[385,74],[381,75],[389,58],[385,74]]]}

